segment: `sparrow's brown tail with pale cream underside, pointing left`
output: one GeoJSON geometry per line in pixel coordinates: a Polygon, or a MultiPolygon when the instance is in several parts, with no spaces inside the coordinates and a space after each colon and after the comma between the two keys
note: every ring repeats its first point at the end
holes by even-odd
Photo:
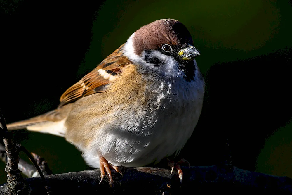
{"type": "Polygon", "coordinates": [[[45,114],[7,125],[8,130],[27,129],[41,133],[49,133],[64,137],[66,134],[65,120],[71,111],[72,104],[47,112],[45,114]]]}

